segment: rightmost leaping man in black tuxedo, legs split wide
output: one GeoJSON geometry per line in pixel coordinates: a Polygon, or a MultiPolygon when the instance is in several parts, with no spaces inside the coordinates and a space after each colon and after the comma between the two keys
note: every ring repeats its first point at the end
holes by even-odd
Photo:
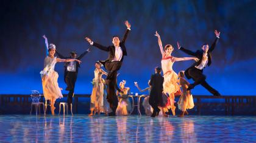
{"type": "Polygon", "coordinates": [[[185,71],[185,75],[188,79],[193,78],[194,83],[191,83],[190,86],[188,86],[187,90],[193,89],[194,86],[201,84],[204,86],[205,89],[207,89],[209,92],[213,94],[213,96],[221,96],[216,89],[212,88],[212,86],[208,85],[208,83],[205,81],[206,77],[204,74],[202,74],[203,69],[208,65],[210,66],[212,63],[212,51],[215,49],[216,43],[219,40],[219,34],[221,32],[218,32],[215,30],[215,41],[213,42],[212,46],[208,46],[208,44],[202,45],[202,50],[197,50],[196,52],[190,51],[188,49],[185,49],[180,46],[179,42],[177,42],[178,48],[185,52],[188,55],[193,55],[197,58],[199,58],[199,61],[194,63],[190,68],[188,68],[185,71]]]}

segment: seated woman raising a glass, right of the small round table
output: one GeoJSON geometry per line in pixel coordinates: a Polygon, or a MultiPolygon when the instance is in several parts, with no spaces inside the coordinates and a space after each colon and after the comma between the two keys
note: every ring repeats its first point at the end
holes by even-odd
{"type": "MultiPolygon", "coordinates": [[[[149,80],[149,82],[150,82],[150,80],[149,80]]],[[[148,85],[149,85],[149,82],[148,82],[148,85]]],[[[138,88],[138,90],[140,92],[148,91],[148,93],[150,94],[150,91],[151,91],[151,86],[150,85],[148,86],[148,88],[145,88],[145,89],[141,89],[137,82],[134,82],[134,85],[138,88]]],[[[149,104],[149,96],[146,95],[146,94],[143,94],[143,95],[146,96],[144,98],[143,102],[142,102],[142,105],[144,107],[145,113],[146,113],[146,115],[151,115],[153,113],[153,108],[149,104]]]]}

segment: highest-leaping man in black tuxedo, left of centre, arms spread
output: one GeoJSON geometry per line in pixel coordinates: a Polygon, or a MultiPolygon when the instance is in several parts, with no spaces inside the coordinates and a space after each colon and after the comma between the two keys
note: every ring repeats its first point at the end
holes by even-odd
{"type": "Polygon", "coordinates": [[[123,40],[120,41],[119,37],[114,36],[112,39],[112,46],[102,46],[96,42],[90,40],[90,38],[85,37],[85,40],[88,41],[91,45],[98,47],[102,51],[108,52],[108,58],[105,61],[100,61],[102,65],[104,65],[105,69],[108,71],[108,75],[106,78],[107,83],[107,101],[110,103],[110,108],[112,108],[112,113],[108,114],[110,116],[115,116],[116,108],[118,106],[118,98],[116,96],[115,88],[116,88],[116,75],[117,71],[121,68],[124,55],[127,55],[126,52],[126,38],[130,31],[130,23],[128,21],[125,22],[127,30],[124,34],[123,40]]]}

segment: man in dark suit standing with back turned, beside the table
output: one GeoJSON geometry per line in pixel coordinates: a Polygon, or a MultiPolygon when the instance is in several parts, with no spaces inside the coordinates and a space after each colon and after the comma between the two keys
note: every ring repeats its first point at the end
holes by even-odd
{"type": "Polygon", "coordinates": [[[155,68],[155,74],[151,75],[149,85],[151,86],[151,92],[149,94],[149,104],[154,109],[151,117],[155,117],[160,109],[158,106],[162,103],[162,92],[163,92],[163,76],[161,75],[162,68],[155,68]]]}

